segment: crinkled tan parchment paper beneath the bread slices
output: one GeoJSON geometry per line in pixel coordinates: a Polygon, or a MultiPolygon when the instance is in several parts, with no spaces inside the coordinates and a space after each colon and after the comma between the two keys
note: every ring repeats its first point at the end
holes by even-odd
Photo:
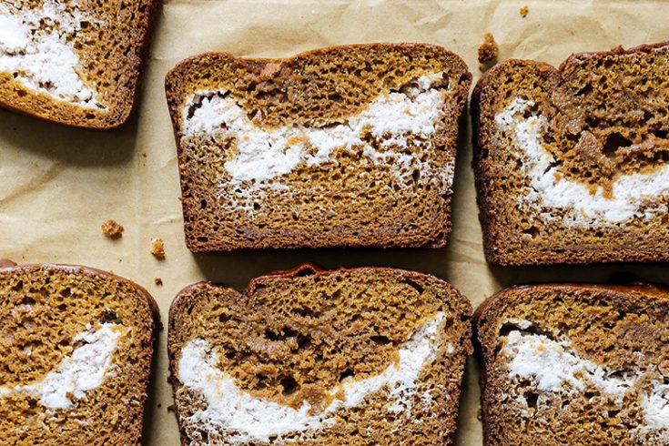
{"type": "MultiPolygon", "coordinates": [[[[453,222],[439,250],[316,250],[193,255],[182,232],[176,147],[163,79],[179,60],[205,51],[238,56],[290,56],[302,50],[366,42],[445,46],[480,77],[483,33],[500,44],[500,59],[533,58],[559,65],[573,52],[669,39],[669,4],[598,1],[223,1],[167,0],[157,14],[137,107],[124,127],[95,132],[0,111],[0,258],[61,262],[113,270],[143,285],[167,309],[179,289],[208,279],[244,288],[272,269],[316,261],[327,268],[363,265],[416,269],[449,280],[474,308],[493,292],[531,281],[602,282],[615,272],[669,281],[669,266],[492,269],[483,259],[471,172],[471,124],[461,128],[453,222]],[[519,9],[530,8],[522,18],[519,9]],[[115,218],[123,238],[100,225],[115,218]],[[165,239],[167,258],[149,252],[165,239]],[[163,279],[158,287],[154,278],[163,279]]],[[[465,374],[457,444],[481,445],[478,365],[465,374]]],[[[166,331],[159,339],[147,406],[147,445],[177,445],[167,384],[166,331]]]]}

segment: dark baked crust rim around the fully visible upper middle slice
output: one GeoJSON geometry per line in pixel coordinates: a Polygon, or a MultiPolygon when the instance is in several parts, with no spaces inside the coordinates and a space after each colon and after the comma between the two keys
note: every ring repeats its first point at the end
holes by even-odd
{"type": "MultiPolygon", "coordinates": [[[[181,120],[179,119],[179,109],[181,106],[181,98],[184,96],[185,88],[185,75],[193,69],[197,69],[198,66],[208,66],[210,65],[211,60],[214,59],[229,59],[234,61],[243,61],[246,63],[285,63],[287,61],[293,61],[300,58],[307,58],[312,56],[319,56],[321,54],[329,54],[337,51],[347,51],[350,49],[362,49],[366,50],[368,48],[382,48],[382,47],[397,47],[404,48],[407,50],[411,49],[422,49],[422,48],[433,48],[441,51],[445,57],[451,57],[453,62],[458,64],[458,69],[461,71],[461,76],[464,76],[464,82],[461,85],[461,100],[457,103],[456,108],[453,110],[453,116],[456,117],[455,122],[460,123],[462,112],[467,104],[467,96],[471,87],[471,72],[469,71],[468,66],[462,60],[461,56],[447,50],[443,46],[437,46],[432,44],[410,44],[410,43],[375,43],[375,44],[354,44],[354,45],[342,45],[342,46],[326,46],[323,48],[317,48],[309,51],[299,53],[294,56],[284,57],[284,58],[247,58],[247,57],[237,57],[229,53],[215,53],[208,52],[203,53],[198,56],[191,56],[187,59],[182,60],[167,72],[165,76],[165,94],[167,98],[167,106],[169,108],[169,116],[171,117],[172,127],[174,129],[174,137],[177,143],[177,161],[179,164],[179,184],[181,186],[181,193],[183,194],[188,190],[188,181],[181,174],[181,160],[184,155],[184,148],[181,145],[181,137],[183,137],[183,131],[181,128],[181,120]]],[[[455,70],[454,70],[455,71],[455,70]]],[[[458,158],[458,144],[457,144],[457,135],[460,132],[460,126],[455,129],[454,134],[456,135],[456,142],[453,144],[451,149],[451,154],[453,157],[454,163],[457,163],[458,158]]],[[[455,179],[455,174],[453,173],[453,180],[455,179]]],[[[451,186],[451,191],[454,194],[454,181],[451,186]]],[[[201,246],[193,242],[193,239],[189,237],[188,233],[185,234],[186,246],[191,252],[225,252],[225,251],[237,251],[237,250],[267,250],[267,249],[299,249],[299,248],[445,248],[448,244],[449,239],[451,238],[452,232],[452,195],[449,199],[448,206],[443,212],[441,224],[443,225],[443,236],[440,239],[432,240],[431,242],[424,244],[411,243],[405,240],[400,240],[396,238],[396,242],[393,244],[381,243],[378,239],[369,238],[365,243],[353,243],[347,238],[341,238],[339,243],[333,244],[323,244],[320,243],[317,238],[313,239],[311,243],[304,244],[299,247],[286,247],[286,246],[272,246],[269,248],[260,248],[251,246],[246,243],[237,243],[228,248],[216,248],[213,246],[201,246]]],[[[183,214],[184,216],[189,215],[191,212],[188,209],[187,203],[181,201],[183,214]]]]}

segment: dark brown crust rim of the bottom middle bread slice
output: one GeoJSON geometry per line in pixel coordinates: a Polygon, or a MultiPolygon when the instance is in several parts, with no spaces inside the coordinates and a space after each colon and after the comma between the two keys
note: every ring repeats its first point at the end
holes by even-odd
{"type": "MultiPolygon", "coordinates": [[[[256,289],[256,284],[258,281],[262,281],[263,279],[268,279],[268,278],[282,278],[282,279],[291,279],[295,277],[300,277],[300,276],[307,276],[307,275],[313,275],[313,276],[324,276],[324,275],[329,275],[334,272],[339,272],[339,271],[351,271],[351,270],[357,270],[357,271],[365,271],[365,272],[378,272],[378,271],[390,271],[392,274],[397,274],[397,275],[403,275],[403,276],[409,276],[409,277],[426,277],[428,276],[427,274],[423,274],[417,271],[410,271],[406,269],[392,269],[392,268],[379,268],[379,267],[362,267],[362,268],[356,268],[356,269],[345,269],[345,268],[340,268],[340,269],[323,269],[319,265],[315,263],[304,263],[299,265],[298,267],[295,267],[293,269],[286,269],[286,270],[279,270],[279,271],[272,271],[267,274],[263,274],[261,276],[258,276],[254,279],[251,279],[248,283],[247,289],[244,291],[245,294],[249,295],[252,294],[255,289],[256,289]]],[[[469,309],[469,314],[466,314],[465,316],[470,317],[471,316],[471,303],[468,299],[466,299],[461,293],[457,290],[454,289],[451,284],[448,284],[447,282],[444,282],[441,280],[441,282],[445,283],[448,285],[448,288],[452,289],[453,299],[460,299],[460,302],[456,302],[454,307],[458,306],[463,306],[464,308],[469,309]]],[[[241,296],[241,293],[237,289],[225,287],[223,285],[216,285],[212,284],[210,282],[198,282],[192,285],[189,285],[188,287],[181,289],[177,297],[172,301],[172,304],[169,308],[169,315],[168,315],[168,328],[167,328],[167,356],[169,360],[169,382],[172,384],[172,394],[173,397],[176,400],[176,392],[177,392],[177,387],[178,387],[178,380],[177,380],[177,360],[175,357],[175,352],[178,350],[180,346],[176,345],[176,336],[174,335],[175,331],[178,329],[178,326],[176,324],[176,319],[177,315],[180,314],[182,311],[184,311],[187,307],[188,304],[190,303],[190,291],[194,289],[216,289],[223,287],[229,292],[237,294],[241,296]]],[[[473,353],[473,347],[471,346],[471,343],[467,342],[467,345],[464,346],[465,350],[467,351],[468,355],[471,355],[473,353]]],[[[459,409],[459,404],[460,404],[460,395],[453,395],[453,404],[455,406],[455,413],[457,413],[459,409]]],[[[181,433],[181,444],[182,446],[187,446],[188,445],[188,437],[186,435],[186,431],[184,430],[183,422],[182,420],[179,419],[179,411],[175,411],[175,414],[177,416],[177,423],[179,426],[179,431],[181,433]]],[[[452,421],[453,423],[455,420],[452,421]]],[[[446,444],[451,444],[452,442],[452,436],[449,439],[444,439],[446,444]]]]}

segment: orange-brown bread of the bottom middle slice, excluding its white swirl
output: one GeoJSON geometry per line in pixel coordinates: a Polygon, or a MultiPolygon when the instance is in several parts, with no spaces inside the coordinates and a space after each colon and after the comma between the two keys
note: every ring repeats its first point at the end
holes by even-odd
{"type": "MultiPolygon", "coordinates": [[[[471,307],[431,276],[303,267],[254,279],[245,294],[206,283],[192,286],[170,310],[172,374],[177,376],[181,349],[200,338],[221,353],[218,367],[240,389],[295,409],[308,401],[322,411],[332,400],[328,390],[345,378],[365,379],[385,370],[398,359],[399,346],[438,311],[446,319],[440,352],[421,372],[411,396],[411,419],[385,409],[386,387],[358,407],[335,412],[331,427],[279,436],[273,443],[451,444],[464,360],[471,351],[471,307]],[[447,343],[451,354],[444,353],[447,343]],[[430,389],[433,402],[426,406],[421,394],[430,389]]],[[[188,417],[207,403],[176,378],[173,384],[183,443],[205,444],[202,438],[208,438],[228,444],[225,431],[188,426],[188,417]]]]}

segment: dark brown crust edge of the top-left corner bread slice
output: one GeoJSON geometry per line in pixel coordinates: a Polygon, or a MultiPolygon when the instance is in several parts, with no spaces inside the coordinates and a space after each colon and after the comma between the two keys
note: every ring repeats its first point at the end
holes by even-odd
{"type": "MultiPolygon", "coordinates": [[[[25,95],[25,91],[22,90],[21,95],[19,95],[15,93],[15,89],[11,88],[11,84],[14,84],[14,82],[6,79],[0,80],[0,86],[8,85],[5,88],[5,95],[0,96],[0,107],[68,127],[111,130],[126,123],[135,104],[139,76],[144,71],[154,16],[157,13],[160,0],[137,0],[137,3],[140,5],[137,6],[138,13],[133,15],[136,21],[134,38],[131,44],[127,46],[128,53],[123,59],[127,66],[124,74],[120,76],[120,78],[125,79],[125,83],[117,85],[117,88],[123,89],[125,94],[120,96],[122,102],[109,105],[109,113],[102,116],[86,117],[86,109],[64,101],[53,100],[44,94],[28,92],[25,95]],[[45,108],[51,108],[53,111],[51,113],[45,112],[43,111],[45,108]]],[[[5,76],[0,73],[0,77],[5,76]]]]}

